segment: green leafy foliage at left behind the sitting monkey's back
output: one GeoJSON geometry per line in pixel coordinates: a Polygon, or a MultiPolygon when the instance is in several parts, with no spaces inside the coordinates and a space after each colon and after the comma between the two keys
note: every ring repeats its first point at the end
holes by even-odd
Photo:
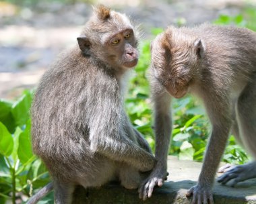
{"type": "Polygon", "coordinates": [[[15,203],[15,193],[29,196],[32,187],[49,183],[46,168],[32,154],[31,101],[31,91],[25,91],[15,102],[0,101],[0,203],[15,203]]]}

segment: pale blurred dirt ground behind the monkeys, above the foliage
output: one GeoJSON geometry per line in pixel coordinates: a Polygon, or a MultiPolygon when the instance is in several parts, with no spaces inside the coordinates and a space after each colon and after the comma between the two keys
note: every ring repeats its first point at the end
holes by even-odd
{"type": "MultiPolygon", "coordinates": [[[[255,2],[255,0],[253,0],[255,2]]],[[[0,98],[14,99],[35,87],[61,50],[76,43],[92,6],[87,3],[35,3],[18,7],[0,1],[0,98]]],[[[143,38],[152,28],[195,25],[220,14],[238,15],[242,0],[97,1],[127,13],[140,24],[143,38]]]]}

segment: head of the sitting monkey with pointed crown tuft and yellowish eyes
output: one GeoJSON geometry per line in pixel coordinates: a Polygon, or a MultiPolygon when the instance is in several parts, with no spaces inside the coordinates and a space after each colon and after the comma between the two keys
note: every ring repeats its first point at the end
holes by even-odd
{"type": "Polygon", "coordinates": [[[137,64],[137,33],[131,22],[126,15],[103,5],[94,8],[77,42],[85,56],[115,68],[131,68],[137,64]]]}

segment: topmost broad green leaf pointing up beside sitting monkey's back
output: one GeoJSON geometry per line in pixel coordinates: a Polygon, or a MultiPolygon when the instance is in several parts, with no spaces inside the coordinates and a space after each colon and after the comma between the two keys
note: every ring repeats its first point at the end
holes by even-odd
{"type": "Polygon", "coordinates": [[[31,103],[32,95],[28,91],[13,103],[11,113],[15,119],[15,125],[24,125],[29,119],[31,103]]]}

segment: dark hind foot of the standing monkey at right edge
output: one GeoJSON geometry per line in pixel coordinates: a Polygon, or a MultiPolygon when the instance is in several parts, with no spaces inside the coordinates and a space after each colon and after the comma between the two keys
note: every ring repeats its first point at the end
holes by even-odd
{"type": "Polygon", "coordinates": [[[224,167],[222,171],[220,171],[221,169],[218,171],[224,172],[224,174],[217,179],[219,183],[224,185],[228,181],[231,181],[230,186],[234,187],[238,182],[245,181],[249,178],[256,178],[256,161],[238,166],[224,167]]]}

